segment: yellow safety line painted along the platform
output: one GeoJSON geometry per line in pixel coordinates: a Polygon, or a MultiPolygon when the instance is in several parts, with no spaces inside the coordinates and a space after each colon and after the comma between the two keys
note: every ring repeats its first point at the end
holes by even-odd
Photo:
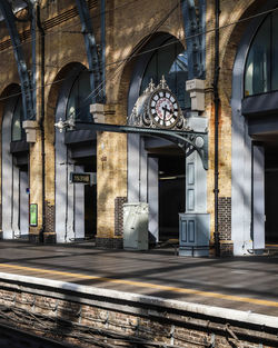
{"type": "Polygon", "coordinates": [[[224,294],[218,294],[218,292],[200,291],[200,290],[195,290],[195,289],[176,288],[176,287],[169,287],[169,286],[149,284],[149,282],[142,282],[142,281],[112,279],[112,278],[106,278],[106,277],[88,276],[88,275],[81,275],[81,274],[70,274],[70,272],[52,270],[52,269],[38,269],[38,268],[32,268],[32,267],[7,265],[7,264],[0,264],[0,267],[29,270],[29,271],[33,271],[37,274],[39,272],[39,274],[69,276],[72,278],[91,279],[91,280],[99,280],[99,281],[106,281],[106,282],[130,285],[130,286],[137,286],[141,288],[151,288],[151,289],[158,289],[158,290],[171,291],[171,292],[178,292],[178,294],[199,295],[202,297],[212,297],[212,298],[218,298],[218,299],[224,299],[224,300],[247,302],[247,304],[254,304],[254,305],[260,305],[260,306],[278,307],[278,302],[276,301],[261,300],[257,298],[248,298],[248,297],[241,297],[241,296],[235,296],[235,295],[224,295],[224,294]]]}

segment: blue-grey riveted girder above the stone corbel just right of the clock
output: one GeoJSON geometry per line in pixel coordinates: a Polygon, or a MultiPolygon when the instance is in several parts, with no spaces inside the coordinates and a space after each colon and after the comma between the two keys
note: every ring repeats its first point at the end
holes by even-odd
{"type": "Polygon", "coordinates": [[[205,79],[206,0],[181,0],[188,52],[188,79],[205,79]]]}

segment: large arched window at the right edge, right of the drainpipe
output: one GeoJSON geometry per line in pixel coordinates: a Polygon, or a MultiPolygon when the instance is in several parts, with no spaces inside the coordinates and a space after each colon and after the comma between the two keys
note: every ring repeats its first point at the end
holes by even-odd
{"type": "Polygon", "coordinates": [[[259,27],[245,67],[245,97],[278,90],[278,13],[268,14],[259,27]]]}

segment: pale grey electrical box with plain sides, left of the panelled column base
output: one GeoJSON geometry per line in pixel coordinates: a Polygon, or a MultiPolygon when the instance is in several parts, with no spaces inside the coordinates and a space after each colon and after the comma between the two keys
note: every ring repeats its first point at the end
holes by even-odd
{"type": "Polygon", "coordinates": [[[123,249],[148,250],[148,203],[123,205],[123,249]]]}

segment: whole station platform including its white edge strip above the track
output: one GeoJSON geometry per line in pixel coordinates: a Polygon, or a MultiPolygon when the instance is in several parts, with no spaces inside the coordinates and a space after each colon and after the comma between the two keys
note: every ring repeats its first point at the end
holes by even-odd
{"type": "MultiPolygon", "coordinates": [[[[259,337],[269,340],[264,347],[277,347],[278,340],[272,341],[269,335],[277,337],[278,332],[278,247],[269,250],[269,255],[217,259],[179,257],[173,248],[126,251],[98,249],[92,242],[47,246],[1,241],[0,289],[10,287],[36,296],[60,292],[54,298],[71,297],[73,302],[133,317],[148,308],[152,316],[171,311],[176,324],[177,316],[219,326],[237,324],[241,327],[235,329],[237,335],[240,330],[260,331],[259,337]]],[[[230,339],[237,340],[237,335],[230,334],[230,339]]],[[[254,344],[258,347],[258,340],[254,344]]]]}

